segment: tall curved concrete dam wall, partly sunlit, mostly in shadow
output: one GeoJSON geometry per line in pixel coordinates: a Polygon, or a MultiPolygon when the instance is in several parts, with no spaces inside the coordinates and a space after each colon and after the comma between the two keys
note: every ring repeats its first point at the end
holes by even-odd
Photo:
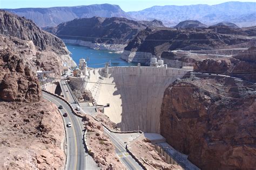
{"type": "Polygon", "coordinates": [[[110,67],[89,70],[86,89],[98,104],[110,103],[105,114],[123,131],[160,133],[165,89],[188,70],[164,67],[110,67]],[[92,83],[98,82],[98,83],[92,83]]]}

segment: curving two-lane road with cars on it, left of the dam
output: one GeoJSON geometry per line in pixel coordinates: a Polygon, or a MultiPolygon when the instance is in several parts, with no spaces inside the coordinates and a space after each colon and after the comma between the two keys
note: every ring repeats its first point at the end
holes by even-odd
{"type": "Polygon", "coordinates": [[[66,128],[67,139],[68,139],[68,155],[66,162],[66,169],[88,169],[86,166],[87,154],[85,153],[83,145],[83,131],[77,116],[72,114],[68,104],[59,98],[43,92],[43,97],[56,104],[57,106],[62,105],[63,109],[60,112],[64,114],[66,112],[68,117],[64,117],[65,125],[71,122],[72,127],[66,128]]]}

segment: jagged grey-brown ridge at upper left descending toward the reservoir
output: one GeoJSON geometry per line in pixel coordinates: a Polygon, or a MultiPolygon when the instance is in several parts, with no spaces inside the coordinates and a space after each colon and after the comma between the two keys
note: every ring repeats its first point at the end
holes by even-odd
{"type": "Polygon", "coordinates": [[[31,20],[18,17],[10,12],[0,10],[0,33],[4,36],[12,36],[25,41],[32,41],[35,46],[32,54],[36,51],[51,51],[55,55],[68,63],[70,66],[75,66],[75,62],[69,56],[69,51],[61,39],[52,34],[39,29],[31,20]]]}

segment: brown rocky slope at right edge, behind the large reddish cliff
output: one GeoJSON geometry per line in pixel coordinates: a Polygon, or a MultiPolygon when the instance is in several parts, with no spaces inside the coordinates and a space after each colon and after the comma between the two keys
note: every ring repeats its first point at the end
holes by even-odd
{"type": "Polygon", "coordinates": [[[231,75],[256,82],[256,47],[241,52],[228,59],[206,59],[197,61],[194,70],[214,74],[231,75]]]}

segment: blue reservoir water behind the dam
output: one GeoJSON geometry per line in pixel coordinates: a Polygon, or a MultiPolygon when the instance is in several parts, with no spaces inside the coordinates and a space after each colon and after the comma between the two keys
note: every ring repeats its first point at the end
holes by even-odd
{"type": "Polygon", "coordinates": [[[111,67],[116,66],[137,66],[137,63],[129,63],[122,60],[121,54],[115,54],[107,50],[90,49],[84,46],[66,44],[69,51],[72,53],[72,59],[79,65],[79,59],[87,57],[87,66],[92,68],[104,67],[106,62],[111,61],[111,67]]]}

